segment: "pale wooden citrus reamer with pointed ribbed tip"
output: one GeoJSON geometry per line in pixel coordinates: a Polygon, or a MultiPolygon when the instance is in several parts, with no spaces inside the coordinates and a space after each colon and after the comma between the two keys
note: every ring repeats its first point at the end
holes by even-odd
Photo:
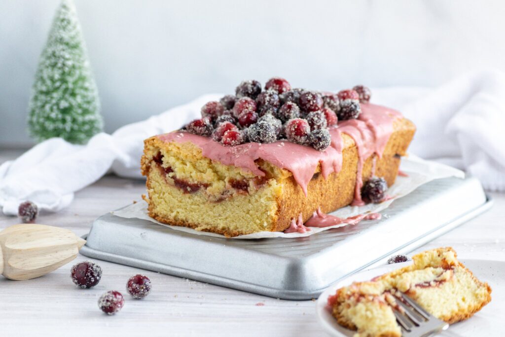
{"type": "Polygon", "coordinates": [[[86,240],[71,230],[19,224],[0,231],[0,274],[13,280],[45,275],[75,259],[86,240]]]}

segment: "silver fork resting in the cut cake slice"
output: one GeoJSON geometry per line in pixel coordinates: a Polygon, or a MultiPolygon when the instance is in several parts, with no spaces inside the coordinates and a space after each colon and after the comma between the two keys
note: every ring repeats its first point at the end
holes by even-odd
{"type": "Polygon", "coordinates": [[[393,311],[400,324],[402,336],[426,337],[449,327],[449,324],[431,315],[407,295],[401,294],[400,297],[401,299],[396,299],[396,303],[403,310],[393,311]]]}

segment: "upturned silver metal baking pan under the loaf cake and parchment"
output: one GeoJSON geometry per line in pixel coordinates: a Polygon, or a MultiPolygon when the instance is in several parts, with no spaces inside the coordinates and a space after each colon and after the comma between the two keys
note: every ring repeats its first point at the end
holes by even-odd
{"type": "Polygon", "coordinates": [[[317,298],[342,277],[408,253],[487,210],[474,178],[446,178],[395,200],[378,221],[299,238],[226,239],[140,219],[97,218],[81,254],[275,298],[317,298]]]}

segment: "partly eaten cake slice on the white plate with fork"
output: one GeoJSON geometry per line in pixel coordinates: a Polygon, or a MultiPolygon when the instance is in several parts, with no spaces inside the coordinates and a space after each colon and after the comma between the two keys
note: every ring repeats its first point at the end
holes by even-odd
{"type": "Polygon", "coordinates": [[[491,301],[489,285],[459,262],[452,248],[438,248],[415,255],[408,267],[340,288],[328,305],[339,324],[358,331],[356,336],[399,337],[393,313],[397,292],[450,324],[471,317],[491,301]]]}

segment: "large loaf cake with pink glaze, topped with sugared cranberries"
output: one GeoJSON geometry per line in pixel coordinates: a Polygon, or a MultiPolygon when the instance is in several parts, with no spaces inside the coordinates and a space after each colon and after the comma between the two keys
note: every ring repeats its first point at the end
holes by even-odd
{"type": "Polygon", "coordinates": [[[149,216],[230,237],[383,201],[415,126],[369,100],[364,86],[318,92],[274,77],[262,91],[243,81],[201,119],[144,141],[149,216]]]}

